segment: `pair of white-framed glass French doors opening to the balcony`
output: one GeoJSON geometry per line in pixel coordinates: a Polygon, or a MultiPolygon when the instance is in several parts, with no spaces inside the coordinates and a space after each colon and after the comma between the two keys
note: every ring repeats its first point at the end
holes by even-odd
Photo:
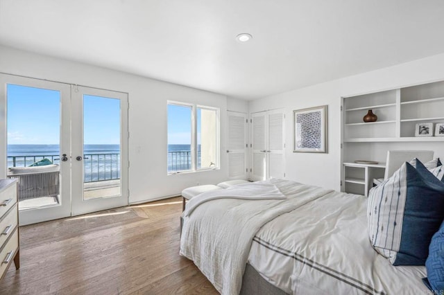
{"type": "Polygon", "coordinates": [[[20,225],[128,204],[128,97],[0,74],[0,178],[20,225]]]}

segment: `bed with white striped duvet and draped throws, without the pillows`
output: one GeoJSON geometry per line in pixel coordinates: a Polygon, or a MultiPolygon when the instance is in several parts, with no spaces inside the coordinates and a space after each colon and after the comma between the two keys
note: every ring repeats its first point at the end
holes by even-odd
{"type": "Polygon", "coordinates": [[[180,254],[221,294],[430,292],[424,266],[395,267],[373,249],[364,196],[270,179],[191,201],[182,215],[180,254]],[[239,196],[260,186],[284,198],[239,196]]]}

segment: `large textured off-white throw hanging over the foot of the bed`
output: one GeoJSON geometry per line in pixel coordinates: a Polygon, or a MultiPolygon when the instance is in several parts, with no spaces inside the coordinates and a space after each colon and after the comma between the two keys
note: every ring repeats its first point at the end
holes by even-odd
{"type": "Polygon", "coordinates": [[[275,184],[287,199],[214,199],[184,216],[180,255],[223,295],[239,294],[253,237],[264,224],[332,192],[280,179],[263,183],[275,184]]]}

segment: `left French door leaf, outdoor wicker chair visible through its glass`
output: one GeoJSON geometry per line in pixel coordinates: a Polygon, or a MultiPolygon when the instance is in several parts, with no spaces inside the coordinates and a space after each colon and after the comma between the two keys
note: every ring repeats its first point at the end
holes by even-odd
{"type": "Polygon", "coordinates": [[[6,97],[6,177],[18,181],[20,225],[70,215],[69,87],[0,75],[6,97]]]}

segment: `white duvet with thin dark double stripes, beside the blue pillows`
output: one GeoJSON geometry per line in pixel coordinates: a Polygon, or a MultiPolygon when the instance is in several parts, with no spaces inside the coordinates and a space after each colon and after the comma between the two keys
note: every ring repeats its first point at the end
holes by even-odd
{"type": "Polygon", "coordinates": [[[276,217],[248,262],[289,294],[430,294],[425,267],[394,267],[370,245],[367,198],[331,193],[276,217]]]}

